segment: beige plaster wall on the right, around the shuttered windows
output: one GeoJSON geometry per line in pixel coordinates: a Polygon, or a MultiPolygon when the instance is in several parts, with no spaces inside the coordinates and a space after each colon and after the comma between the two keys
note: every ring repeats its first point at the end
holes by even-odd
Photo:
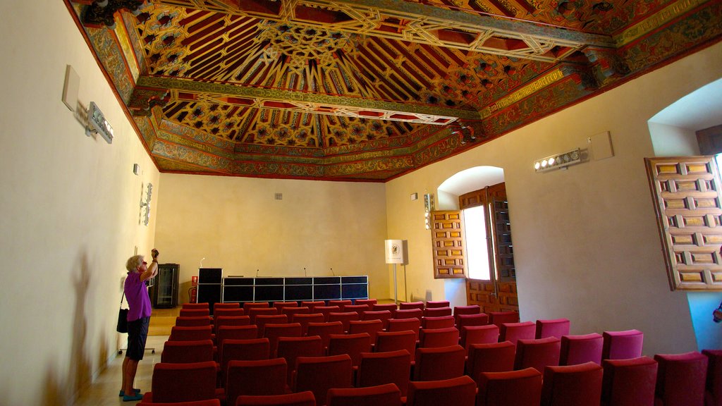
{"type": "Polygon", "coordinates": [[[409,193],[435,192],[454,173],[492,165],[505,173],[523,320],[567,317],[573,334],[640,329],[647,354],[696,350],[686,294],[667,283],[643,158],[654,155],[648,119],[721,76],[717,44],[386,183],[388,234],[409,240],[409,294],[446,295],[432,278],[423,204],[409,193]],[[603,131],[614,157],[534,173],[534,159],[588,148],[587,137],[603,131]]]}

